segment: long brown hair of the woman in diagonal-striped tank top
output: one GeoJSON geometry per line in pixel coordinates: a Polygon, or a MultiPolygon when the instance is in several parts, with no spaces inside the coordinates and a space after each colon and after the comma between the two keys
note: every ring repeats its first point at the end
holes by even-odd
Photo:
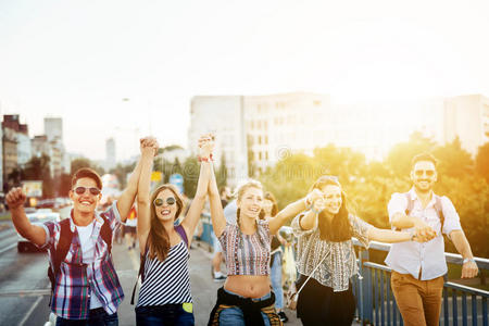
{"type": "Polygon", "coordinates": [[[181,197],[178,195],[178,190],[174,185],[165,184],[158,187],[153,193],[151,193],[150,199],[150,231],[148,235],[148,244],[149,244],[149,255],[151,259],[158,258],[159,261],[164,261],[168,255],[170,251],[170,237],[166,231],[163,223],[158,218],[156,209],[154,208],[154,200],[158,195],[163,190],[170,190],[173,192],[175,197],[177,211],[175,213],[175,220],[180,216],[181,210],[184,209],[184,201],[181,197]]]}

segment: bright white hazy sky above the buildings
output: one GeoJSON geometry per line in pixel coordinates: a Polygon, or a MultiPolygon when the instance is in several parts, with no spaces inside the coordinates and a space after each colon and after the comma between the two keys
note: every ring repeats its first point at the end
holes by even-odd
{"type": "Polygon", "coordinates": [[[70,152],[187,147],[193,96],[489,96],[489,1],[0,0],[0,113],[70,152]]]}

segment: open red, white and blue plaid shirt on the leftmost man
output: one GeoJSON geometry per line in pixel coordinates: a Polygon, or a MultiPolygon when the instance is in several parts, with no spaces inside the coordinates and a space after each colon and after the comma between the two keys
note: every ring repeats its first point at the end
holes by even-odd
{"type": "MultiPolygon", "coordinates": [[[[116,201],[105,212],[96,213],[93,231],[90,237],[96,242],[95,260],[90,264],[83,263],[78,231],[73,218],[70,217],[70,227],[74,233],[73,240],[65,260],[61,263],[61,273],[57,276],[51,301],[52,312],[62,318],[88,319],[90,296],[97,296],[108,314],[115,313],[124,299],[112,255],[108,254],[108,246],[99,236],[103,225],[101,214],[105,216],[113,231],[121,224],[116,201]]],[[[59,223],[46,222],[42,227],[47,237],[46,243],[41,248],[48,249],[49,260],[52,264],[54,249],[60,239],[61,226],[59,223]]]]}

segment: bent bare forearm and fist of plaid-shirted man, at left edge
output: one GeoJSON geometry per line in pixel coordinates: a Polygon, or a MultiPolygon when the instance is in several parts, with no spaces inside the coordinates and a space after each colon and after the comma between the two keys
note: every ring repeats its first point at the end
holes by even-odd
{"type": "Polygon", "coordinates": [[[21,236],[37,246],[42,246],[46,243],[46,231],[41,226],[32,224],[25,215],[25,200],[26,196],[22,188],[13,188],[7,193],[5,201],[12,215],[12,222],[21,236]]]}

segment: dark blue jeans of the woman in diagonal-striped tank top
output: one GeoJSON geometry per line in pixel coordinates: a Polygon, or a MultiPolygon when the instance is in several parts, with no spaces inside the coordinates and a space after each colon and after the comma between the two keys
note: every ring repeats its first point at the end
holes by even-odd
{"type": "Polygon", "coordinates": [[[138,326],[192,326],[193,313],[186,312],[180,304],[148,305],[136,308],[138,326]]]}

